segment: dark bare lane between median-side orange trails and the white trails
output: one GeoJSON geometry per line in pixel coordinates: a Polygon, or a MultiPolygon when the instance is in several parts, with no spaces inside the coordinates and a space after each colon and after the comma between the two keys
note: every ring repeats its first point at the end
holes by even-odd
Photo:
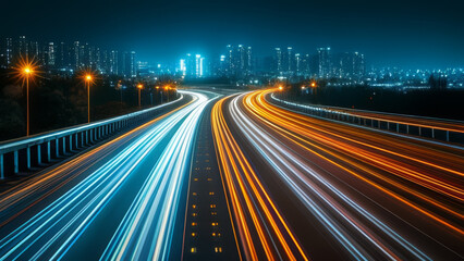
{"type": "MultiPolygon", "coordinates": [[[[295,234],[309,259],[344,259],[347,252],[343,248],[338,247],[337,240],[306,211],[306,207],[284,185],[282,179],[274,173],[273,167],[262,159],[242,129],[234,123],[229,111],[230,102],[231,99],[225,101],[222,112],[233,137],[236,139],[253,169],[257,172],[266,191],[268,191],[270,198],[282,213],[283,219],[289,224],[290,229],[295,234]]],[[[256,245],[260,245],[259,238],[255,237],[254,240],[256,245]]]]}

